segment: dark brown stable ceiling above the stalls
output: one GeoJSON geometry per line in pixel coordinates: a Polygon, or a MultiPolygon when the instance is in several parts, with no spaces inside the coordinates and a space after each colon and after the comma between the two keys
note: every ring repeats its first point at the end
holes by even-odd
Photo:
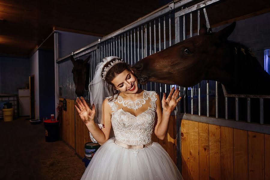
{"type": "MultiPolygon", "coordinates": [[[[53,31],[62,29],[105,36],[168,4],[171,0],[137,1],[0,1],[0,54],[29,56],[53,31]]],[[[196,0],[197,3],[202,0],[196,0]]],[[[223,1],[208,10],[211,23],[269,12],[262,0],[223,1]],[[218,16],[217,16],[218,14],[218,16]]],[[[237,19],[236,19],[237,20],[237,19]]]]}

